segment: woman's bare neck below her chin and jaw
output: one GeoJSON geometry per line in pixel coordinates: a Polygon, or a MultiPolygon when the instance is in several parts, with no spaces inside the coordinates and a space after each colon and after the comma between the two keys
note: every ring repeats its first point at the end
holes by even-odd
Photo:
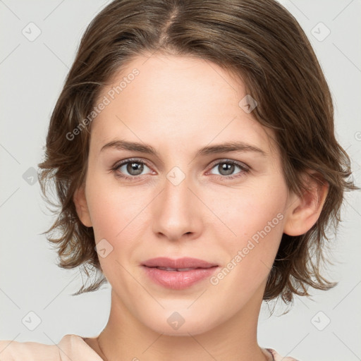
{"type": "MultiPolygon", "coordinates": [[[[263,289],[259,290],[263,294],[263,289]]],[[[104,361],[269,360],[257,344],[262,296],[252,299],[231,319],[202,334],[169,336],[142,324],[111,291],[111,313],[98,337],[104,361]]]]}

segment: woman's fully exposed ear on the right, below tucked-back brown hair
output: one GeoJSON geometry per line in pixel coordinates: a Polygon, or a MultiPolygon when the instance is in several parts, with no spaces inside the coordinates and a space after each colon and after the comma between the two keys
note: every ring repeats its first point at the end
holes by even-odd
{"type": "Polygon", "coordinates": [[[289,197],[283,233],[302,235],[312,228],[319,219],[329,192],[329,183],[316,171],[305,174],[307,190],[301,196],[294,193],[289,197]]]}

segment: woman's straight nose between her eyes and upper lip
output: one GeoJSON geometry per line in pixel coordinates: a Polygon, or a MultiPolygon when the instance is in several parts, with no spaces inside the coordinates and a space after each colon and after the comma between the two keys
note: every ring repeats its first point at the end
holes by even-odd
{"type": "Polygon", "coordinates": [[[164,189],[154,200],[152,208],[153,231],[157,237],[172,241],[199,237],[202,232],[202,203],[195,191],[190,189],[190,183],[187,177],[178,184],[171,177],[164,181],[164,189]]]}

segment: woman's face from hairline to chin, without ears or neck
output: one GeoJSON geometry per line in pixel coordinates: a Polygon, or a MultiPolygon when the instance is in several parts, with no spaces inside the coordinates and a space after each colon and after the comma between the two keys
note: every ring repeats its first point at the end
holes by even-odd
{"type": "Polygon", "coordinates": [[[214,63],[159,55],[135,59],[99,97],[81,218],[112,302],[159,333],[199,334],[262,301],[290,198],[246,95],[214,63]],[[145,267],[155,257],[215,267],[145,267]]]}

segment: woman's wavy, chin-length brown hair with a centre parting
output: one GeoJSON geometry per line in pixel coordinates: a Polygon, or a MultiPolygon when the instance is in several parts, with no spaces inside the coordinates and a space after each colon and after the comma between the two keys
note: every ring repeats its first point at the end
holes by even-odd
{"type": "MultiPolygon", "coordinates": [[[[288,189],[301,195],[307,189],[302,174],[313,169],[329,183],[322,213],[307,233],[283,234],[270,271],[264,300],[281,295],[309,295],[312,286],[336,285],[324,279],[326,231],[341,221],[345,190],[358,189],[348,180],[350,159],[334,135],[334,109],[322,69],[297,20],[274,0],[116,0],[87,27],[75,61],[51,114],[39,183],[45,197],[53,180],[58,217],[46,233],[58,248],[59,267],[101,271],[92,227],[84,226],[73,195],[85,181],[90,130],[84,125],[100,90],[111,77],[139,55],[173,54],[207,59],[243,79],[247,94],[257,100],[252,112],[274,130],[281,151],[288,189]]],[[[54,212],[54,211],[53,211],[54,212]]],[[[44,232],[45,233],[45,232],[44,232]]],[[[97,290],[101,274],[78,293],[97,290]]]]}

